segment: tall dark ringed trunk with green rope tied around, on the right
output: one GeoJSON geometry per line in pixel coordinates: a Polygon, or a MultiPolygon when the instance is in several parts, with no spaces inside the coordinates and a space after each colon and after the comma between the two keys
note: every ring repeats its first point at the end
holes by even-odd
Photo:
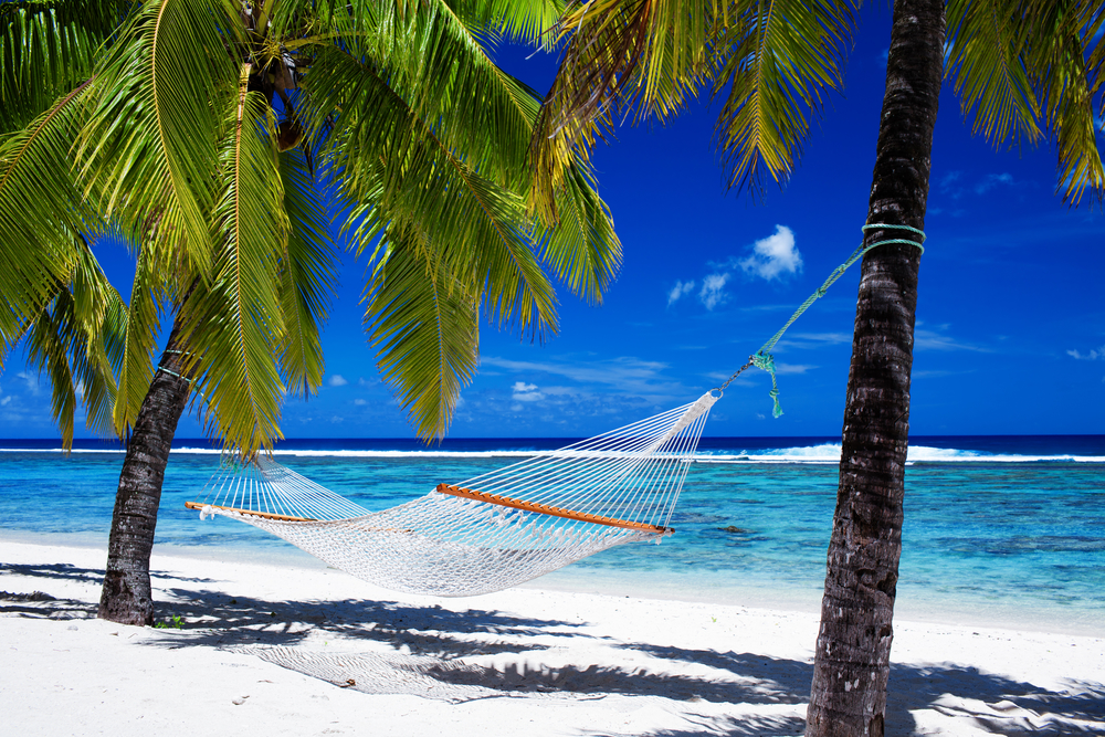
{"type": "MultiPolygon", "coordinates": [[[[869,223],[924,229],[943,76],[944,1],[896,0],[869,223]]],[[[874,230],[865,242],[895,238],[915,236],[874,230]]],[[[919,265],[912,245],[863,259],[808,737],[883,735],[919,265]]]]}

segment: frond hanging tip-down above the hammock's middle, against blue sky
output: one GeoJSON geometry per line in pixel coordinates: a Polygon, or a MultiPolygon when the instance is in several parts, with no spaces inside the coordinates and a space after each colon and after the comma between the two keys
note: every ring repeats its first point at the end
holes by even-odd
{"type": "Polygon", "coordinates": [[[477,295],[456,282],[421,233],[392,224],[365,303],[383,379],[419,436],[440,438],[476,370],[477,295]]]}

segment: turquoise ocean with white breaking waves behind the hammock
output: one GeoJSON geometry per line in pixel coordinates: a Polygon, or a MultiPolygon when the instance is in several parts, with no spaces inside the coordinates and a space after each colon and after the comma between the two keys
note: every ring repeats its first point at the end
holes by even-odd
{"type": "MultiPolygon", "coordinates": [[[[387,508],[575,439],[295,440],[277,460],[369,509],[387,508]]],[[[106,546],[123,453],[0,440],[0,535],[106,546]]],[[[178,440],[156,550],[323,565],[185,502],[219,463],[178,440]]],[[[704,438],[662,544],[607,550],[528,586],[815,611],[839,440],[704,438]]],[[[350,579],[351,591],[357,582],[350,579]]],[[[350,594],[355,596],[355,594],[350,594]]],[[[915,436],[906,470],[896,615],[1105,634],[1105,435],[915,436]]]]}

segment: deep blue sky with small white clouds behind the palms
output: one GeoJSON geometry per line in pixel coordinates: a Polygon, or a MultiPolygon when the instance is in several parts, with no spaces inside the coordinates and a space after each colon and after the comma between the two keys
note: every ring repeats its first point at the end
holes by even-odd
{"type": "MultiPolygon", "coordinates": [[[[844,96],[829,98],[785,190],[726,193],[717,106],[666,127],[622,127],[594,165],[624,245],[600,307],[560,292],[546,345],[485,326],[480,373],[452,436],[585,436],[692,401],[739,367],[859,244],[885,76],[890,14],[862,13],[844,96]]],[[[501,52],[545,90],[555,63],[501,52]]],[[[940,101],[922,260],[913,434],[1105,433],[1105,215],[1055,196],[1055,154],[971,137],[951,84],[940,101]]],[[[98,256],[125,284],[126,252],[98,256]]],[[[362,264],[346,259],[325,333],[326,385],[285,408],[290,438],[411,436],[361,331],[362,264]]],[[[711,435],[838,435],[859,266],[715,406],[711,435]]],[[[0,436],[50,438],[49,387],[19,357],[0,376],[0,436]]],[[[202,434],[194,415],[179,438],[202,434]]],[[[78,430],[78,436],[84,436],[78,430]]]]}

